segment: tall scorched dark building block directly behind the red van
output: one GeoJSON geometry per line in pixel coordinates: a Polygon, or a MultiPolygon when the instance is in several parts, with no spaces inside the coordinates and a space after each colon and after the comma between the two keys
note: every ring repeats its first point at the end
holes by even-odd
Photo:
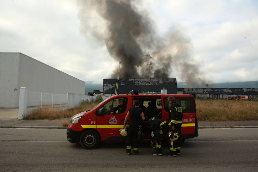
{"type": "MultiPolygon", "coordinates": [[[[117,79],[103,79],[103,93],[114,95],[117,79]]],[[[167,94],[177,94],[176,78],[130,78],[118,80],[117,94],[128,94],[131,90],[140,92],[161,92],[165,88],[167,94]]]]}

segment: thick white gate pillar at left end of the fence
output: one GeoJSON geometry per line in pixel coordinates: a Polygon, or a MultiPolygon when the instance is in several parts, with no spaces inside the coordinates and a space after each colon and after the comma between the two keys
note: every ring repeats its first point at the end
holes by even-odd
{"type": "Polygon", "coordinates": [[[27,113],[27,93],[28,93],[28,88],[26,87],[20,88],[18,120],[22,120],[27,113]]]}

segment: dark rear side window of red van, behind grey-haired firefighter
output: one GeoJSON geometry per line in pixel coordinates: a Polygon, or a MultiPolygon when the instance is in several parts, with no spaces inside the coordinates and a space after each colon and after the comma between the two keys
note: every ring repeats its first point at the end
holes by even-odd
{"type": "MultiPolygon", "coordinates": [[[[169,112],[170,104],[167,101],[168,97],[164,97],[164,110],[169,112]]],[[[195,104],[193,97],[175,97],[175,101],[182,107],[183,113],[195,113],[195,104]]]]}

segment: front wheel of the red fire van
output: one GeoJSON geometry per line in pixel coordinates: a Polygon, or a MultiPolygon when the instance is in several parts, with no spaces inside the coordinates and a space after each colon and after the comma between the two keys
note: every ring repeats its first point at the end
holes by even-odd
{"type": "Polygon", "coordinates": [[[85,149],[95,149],[99,145],[99,134],[94,130],[83,132],[80,137],[80,144],[85,149]]]}

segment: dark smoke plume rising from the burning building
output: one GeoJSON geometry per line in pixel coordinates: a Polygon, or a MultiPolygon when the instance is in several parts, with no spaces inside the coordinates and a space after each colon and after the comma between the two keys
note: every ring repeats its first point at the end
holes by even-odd
{"type": "MultiPolygon", "coordinates": [[[[179,29],[171,27],[157,36],[148,12],[135,1],[78,0],[81,33],[105,44],[112,58],[122,61],[120,78],[168,78],[180,75],[188,86],[204,86],[198,66],[191,63],[191,42],[179,29]]],[[[137,1],[138,3],[140,1],[137,1]]],[[[111,78],[117,77],[115,67],[111,78]]]]}

